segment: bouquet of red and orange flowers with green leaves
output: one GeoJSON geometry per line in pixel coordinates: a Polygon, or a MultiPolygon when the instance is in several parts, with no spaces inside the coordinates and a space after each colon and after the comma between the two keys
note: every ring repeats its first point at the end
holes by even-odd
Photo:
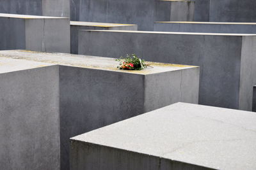
{"type": "Polygon", "coordinates": [[[147,67],[145,60],[141,60],[135,54],[126,55],[126,58],[120,57],[116,59],[119,62],[117,66],[119,69],[129,69],[129,70],[141,70],[147,67]]]}

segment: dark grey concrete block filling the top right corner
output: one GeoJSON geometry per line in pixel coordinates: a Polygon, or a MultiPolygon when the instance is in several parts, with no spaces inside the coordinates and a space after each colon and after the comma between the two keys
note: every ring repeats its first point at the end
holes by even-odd
{"type": "Polygon", "coordinates": [[[195,0],[195,21],[256,22],[253,0],[195,0]]]}

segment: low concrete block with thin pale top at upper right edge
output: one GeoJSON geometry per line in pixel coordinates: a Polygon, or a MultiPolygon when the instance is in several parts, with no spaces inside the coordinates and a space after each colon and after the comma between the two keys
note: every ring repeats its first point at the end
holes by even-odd
{"type": "Polygon", "coordinates": [[[155,22],[154,31],[255,34],[253,22],[155,22]]]}

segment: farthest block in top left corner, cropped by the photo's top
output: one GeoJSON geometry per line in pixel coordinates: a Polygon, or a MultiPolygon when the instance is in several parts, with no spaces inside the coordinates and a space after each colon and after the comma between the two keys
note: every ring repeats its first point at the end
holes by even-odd
{"type": "Polygon", "coordinates": [[[1,0],[0,13],[70,17],[69,0],[1,0]]]}

